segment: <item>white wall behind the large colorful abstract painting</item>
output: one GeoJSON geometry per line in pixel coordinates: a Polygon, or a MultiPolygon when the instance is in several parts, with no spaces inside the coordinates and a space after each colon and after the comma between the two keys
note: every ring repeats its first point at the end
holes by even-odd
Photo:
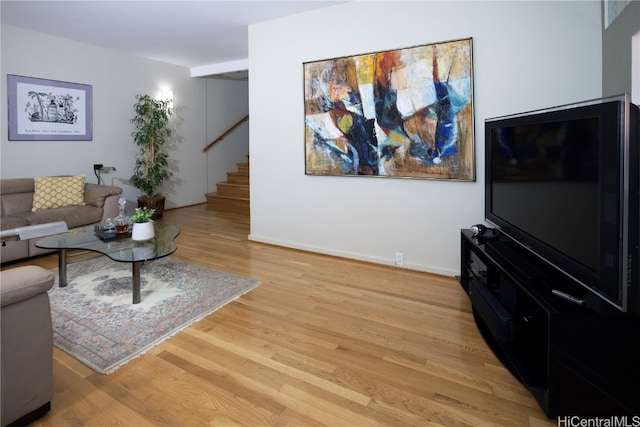
{"type": "Polygon", "coordinates": [[[249,28],[256,241],[457,274],[484,218],[485,118],[601,95],[599,2],[350,2],[249,28]],[[304,174],[302,64],[473,38],[473,183],[304,174]],[[278,46],[278,49],[274,49],[278,46]]]}

